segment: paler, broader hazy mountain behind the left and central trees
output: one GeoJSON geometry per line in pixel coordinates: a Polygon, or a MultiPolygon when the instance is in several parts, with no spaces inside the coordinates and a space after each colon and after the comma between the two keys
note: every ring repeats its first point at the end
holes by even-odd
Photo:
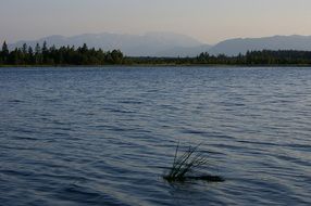
{"type": "Polygon", "coordinates": [[[87,43],[89,48],[113,50],[120,49],[130,56],[195,56],[210,49],[200,41],[179,34],[173,33],[147,33],[146,35],[121,35],[121,34],[85,34],[73,37],[50,36],[35,41],[18,41],[10,48],[22,47],[23,43],[35,47],[38,42],[48,46],[75,46],[87,43]]]}

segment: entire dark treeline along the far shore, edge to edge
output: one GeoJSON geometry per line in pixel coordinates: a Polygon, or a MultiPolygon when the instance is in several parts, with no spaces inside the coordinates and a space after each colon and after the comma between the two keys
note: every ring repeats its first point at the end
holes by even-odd
{"type": "Polygon", "coordinates": [[[207,52],[196,57],[129,57],[120,50],[102,51],[83,47],[48,47],[36,44],[35,48],[23,44],[9,51],[2,44],[0,65],[311,65],[311,51],[249,51],[246,54],[226,56],[210,55],[207,52]]]}

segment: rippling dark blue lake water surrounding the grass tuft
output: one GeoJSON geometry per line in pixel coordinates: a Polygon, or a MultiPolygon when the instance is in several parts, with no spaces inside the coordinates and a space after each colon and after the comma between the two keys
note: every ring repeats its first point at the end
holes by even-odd
{"type": "Polygon", "coordinates": [[[311,68],[1,68],[0,205],[310,205],[311,68]],[[223,183],[169,184],[177,142],[223,183]]]}

